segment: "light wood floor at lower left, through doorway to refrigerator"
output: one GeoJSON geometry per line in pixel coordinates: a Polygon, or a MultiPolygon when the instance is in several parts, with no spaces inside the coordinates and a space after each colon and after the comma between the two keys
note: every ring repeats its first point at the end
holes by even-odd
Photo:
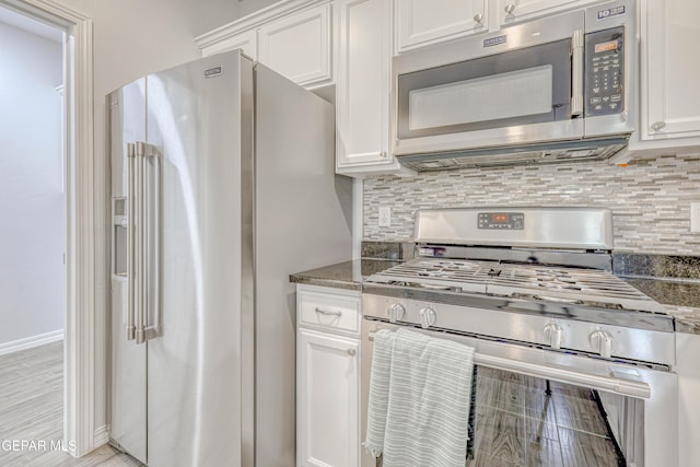
{"type": "Polygon", "coordinates": [[[0,355],[0,466],[141,465],[112,446],[102,446],[80,459],[60,451],[62,397],[62,342],[0,355]]]}

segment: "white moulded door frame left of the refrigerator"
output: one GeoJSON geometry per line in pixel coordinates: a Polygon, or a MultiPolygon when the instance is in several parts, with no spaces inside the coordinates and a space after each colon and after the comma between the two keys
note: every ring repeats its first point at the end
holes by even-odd
{"type": "MultiPolygon", "coordinates": [[[[104,207],[95,186],[93,119],[93,24],[55,0],[0,0],[0,5],[55,25],[63,35],[63,154],[66,173],[66,287],[63,346],[63,441],[79,457],[107,441],[95,432],[95,316],[98,299],[96,259],[104,207]],[[96,212],[96,209],[100,212],[96,212]]],[[[102,352],[101,352],[102,353],[102,352]]],[[[104,367],[101,365],[98,367],[104,367]]]]}

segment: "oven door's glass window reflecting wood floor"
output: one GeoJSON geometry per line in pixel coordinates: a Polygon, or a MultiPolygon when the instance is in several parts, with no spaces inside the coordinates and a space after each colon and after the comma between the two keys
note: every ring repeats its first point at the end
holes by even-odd
{"type": "Polygon", "coordinates": [[[478,369],[474,459],[468,466],[617,467],[594,393],[576,386],[478,369]]]}

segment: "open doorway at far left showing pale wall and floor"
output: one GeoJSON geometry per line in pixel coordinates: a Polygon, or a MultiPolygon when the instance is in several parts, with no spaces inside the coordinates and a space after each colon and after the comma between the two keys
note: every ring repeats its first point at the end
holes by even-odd
{"type": "Polygon", "coordinates": [[[62,35],[0,9],[0,440],[20,442],[3,465],[63,447],[62,35]]]}

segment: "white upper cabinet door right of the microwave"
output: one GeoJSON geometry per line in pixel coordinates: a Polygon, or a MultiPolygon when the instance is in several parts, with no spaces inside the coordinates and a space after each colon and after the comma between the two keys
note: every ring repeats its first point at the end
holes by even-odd
{"type": "Polygon", "coordinates": [[[698,0],[642,2],[642,140],[700,137],[698,17],[698,0]]]}

